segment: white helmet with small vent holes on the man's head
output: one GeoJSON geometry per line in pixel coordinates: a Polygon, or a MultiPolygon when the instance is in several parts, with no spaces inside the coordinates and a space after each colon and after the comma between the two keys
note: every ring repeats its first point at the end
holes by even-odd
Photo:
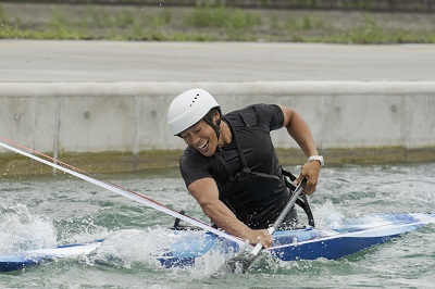
{"type": "Polygon", "coordinates": [[[167,111],[167,124],[174,136],[201,121],[214,108],[216,100],[206,90],[195,88],[176,97],[167,111]]]}

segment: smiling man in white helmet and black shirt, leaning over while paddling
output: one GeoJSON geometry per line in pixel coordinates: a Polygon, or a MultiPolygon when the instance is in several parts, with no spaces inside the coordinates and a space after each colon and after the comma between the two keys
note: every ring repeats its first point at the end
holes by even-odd
{"type": "MultiPolygon", "coordinates": [[[[286,187],[270,131],[285,127],[309,158],[300,175],[311,194],[323,158],[318,154],[307,123],[284,105],[253,104],[222,115],[220,105],[197,88],[177,96],[167,112],[172,133],[188,144],[179,168],[188,191],[203,213],[221,229],[265,248],[272,244],[268,227],[291,194],[286,187]]],[[[281,228],[297,223],[295,208],[281,228]]]]}

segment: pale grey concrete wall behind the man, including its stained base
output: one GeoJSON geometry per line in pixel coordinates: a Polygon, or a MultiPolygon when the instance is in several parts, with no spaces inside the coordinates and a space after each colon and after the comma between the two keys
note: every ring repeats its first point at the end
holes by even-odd
{"type": "MultiPolygon", "coordinates": [[[[435,160],[435,81],[2,83],[0,136],[90,172],[176,166],[166,110],[194,87],[223,112],[296,109],[328,164],[435,160]]],[[[304,162],[285,129],[273,139],[284,164],[304,162]]],[[[0,149],[0,172],[49,169],[0,149]]]]}

